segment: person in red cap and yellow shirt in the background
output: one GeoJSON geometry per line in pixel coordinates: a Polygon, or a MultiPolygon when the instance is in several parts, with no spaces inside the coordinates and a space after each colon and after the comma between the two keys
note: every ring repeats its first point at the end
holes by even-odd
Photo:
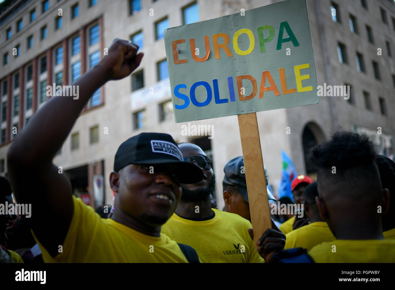
{"type": "MultiPolygon", "coordinates": [[[[313,183],[312,179],[307,175],[298,175],[291,183],[291,191],[293,195],[293,200],[296,205],[303,204],[303,192],[305,191],[307,185],[313,183]]],[[[283,234],[288,234],[293,230],[305,226],[309,223],[308,218],[295,219],[295,215],[281,224],[280,230],[283,234]]]]}

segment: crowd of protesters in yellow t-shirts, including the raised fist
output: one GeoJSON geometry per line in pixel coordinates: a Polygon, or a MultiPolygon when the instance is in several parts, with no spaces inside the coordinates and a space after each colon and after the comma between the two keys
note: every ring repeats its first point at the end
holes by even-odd
{"type": "MultiPolygon", "coordinates": [[[[389,208],[395,163],[351,132],[337,131],[312,148],[317,181],[299,175],[291,185],[293,201],[278,200],[303,211],[273,211],[265,232],[251,228],[243,157],[224,167],[225,206],[218,210],[211,204],[210,158],[165,133],[141,133],[119,146],[109,176],[115,193],[110,215],[73,196],[53,157],[90,96],[138,67],[143,54],[137,50],[116,39],[73,83],[80,86],[79,99],[51,98],[13,141],[10,182],[0,178],[1,203],[12,203],[13,193],[33,213],[0,215],[1,262],[395,262],[395,210],[389,208]],[[256,245],[254,235],[260,236],[256,245]]],[[[262,178],[268,184],[268,176],[262,178]]],[[[278,206],[269,191],[268,199],[268,210],[278,206]]]]}

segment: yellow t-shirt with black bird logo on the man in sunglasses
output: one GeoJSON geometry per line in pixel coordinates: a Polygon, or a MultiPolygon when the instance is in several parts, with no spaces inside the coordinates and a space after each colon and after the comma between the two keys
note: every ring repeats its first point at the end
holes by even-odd
{"type": "Polygon", "coordinates": [[[203,263],[264,262],[248,234],[251,223],[235,213],[212,210],[215,217],[208,221],[191,221],[174,213],[162,232],[177,243],[193,247],[203,263]]]}

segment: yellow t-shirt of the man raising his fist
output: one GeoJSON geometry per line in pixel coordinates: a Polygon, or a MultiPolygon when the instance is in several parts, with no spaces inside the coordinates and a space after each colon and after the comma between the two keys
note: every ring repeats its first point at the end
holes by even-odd
{"type": "Polygon", "coordinates": [[[141,234],[112,219],[102,219],[80,198],[73,196],[73,203],[74,213],[62,253],[52,258],[34,236],[44,262],[188,262],[177,243],[166,235],[161,234],[160,238],[156,238],[141,234]]]}

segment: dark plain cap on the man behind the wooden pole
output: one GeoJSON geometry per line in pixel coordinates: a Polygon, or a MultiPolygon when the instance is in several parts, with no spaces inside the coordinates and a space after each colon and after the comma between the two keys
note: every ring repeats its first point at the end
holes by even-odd
{"type": "MultiPolygon", "coordinates": [[[[228,163],[226,163],[224,167],[224,180],[222,184],[227,184],[233,187],[236,187],[239,191],[240,195],[243,199],[248,202],[248,192],[247,192],[247,182],[246,182],[246,175],[244,170],[241,170],[241,167],[244,166],[243,156],[235,157],[228,163]]],[[[267,170],[265,167],[265,180],[266,186],[269,181],[269,176],[267,175],[267,170]]],[[[275,197],[272,193],[267,189],[267,199],[276,201],[275,197]]]]}

